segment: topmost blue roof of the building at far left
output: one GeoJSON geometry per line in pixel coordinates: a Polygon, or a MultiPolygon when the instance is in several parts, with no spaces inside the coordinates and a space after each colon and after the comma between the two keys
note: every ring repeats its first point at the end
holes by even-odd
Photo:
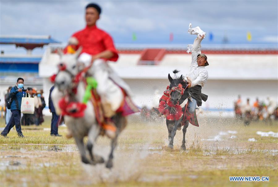
{"type": "Polygon", "coordinates": [[[13,37],[0,37],[0,44],[49,44],[60,43],[52,38],[13,38],[13,37]]]}

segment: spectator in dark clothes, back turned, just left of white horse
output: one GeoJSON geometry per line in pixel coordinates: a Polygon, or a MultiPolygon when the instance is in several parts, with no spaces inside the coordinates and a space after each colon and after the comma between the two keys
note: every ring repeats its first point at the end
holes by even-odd
{"type": "Polygon", "coordinates": [[[60,120],[60,116],[58,116],[55,112],[55,108],[51,99],[51,93],[54,89],[54,86],[52,86],[49,90],[49,98],[48,98],[48,106],[49,106],[49,112],[52,114],[51,118],[51,129],[50,129],[50,135],[52,136],[61,136],[58,134],[58,123],[60,120]]]}

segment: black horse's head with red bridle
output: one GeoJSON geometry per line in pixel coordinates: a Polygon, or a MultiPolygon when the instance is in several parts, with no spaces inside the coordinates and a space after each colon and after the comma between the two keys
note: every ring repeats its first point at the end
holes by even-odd
{"type": "Polygon", "coordinates": [[[168,74],[168,79],[170,81],[170,85],[169,85],[169,94],[170,94],[170,101],[176,105],[180,99],[184,98],[188,98],[189,93],[188,93],[188,88],[187,88],[187,81],[183,80],[184,77],[179,77],[176,79],[173,79],[170,76],[170,73],[168,74]]]}

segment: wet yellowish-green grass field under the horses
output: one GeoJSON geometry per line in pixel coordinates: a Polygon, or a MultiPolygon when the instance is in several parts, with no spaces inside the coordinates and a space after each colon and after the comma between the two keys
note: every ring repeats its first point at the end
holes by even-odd
{"type": "MultiPolygon", "coordinates": [[[[1,119],[0,127],[4,127],[1,119]]],[[[199,120],[189,126],[186,151],[181,151],[182,131],[167,148],[165,122],[129,120],[119,137],[114,168],[85,165],[73,139],[50,136],[50,119],[39,127],[22,127],[0,137],[1,186],[277,186],[277,138],[261,137],[257,131],[277,133],[272,126],[252,122],[244,127],[233,119],[199,120]],[[234,133],[234,134],[233,134],[234,133]],[[219,136],[218,140],[211,140],[219,136]],[[248,141],[249,138],[256,142],[248,141]],[[267,176],[268,182],[230,182],[229,176],[267,176]]],[[[100,137],[94,151],[107,160],[109,139],[100,137]]]]}

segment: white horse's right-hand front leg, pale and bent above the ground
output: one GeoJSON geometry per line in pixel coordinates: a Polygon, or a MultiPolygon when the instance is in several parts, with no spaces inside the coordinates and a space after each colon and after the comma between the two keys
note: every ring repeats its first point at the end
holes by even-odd
{"type": "Polygon", "coordinates": [[[96,138],[99,135],[99,132],[100,132],[99,125],[93,124],[88,133],[87,149],[91,158],[91,164],[104,163],[104,159],[101,156],[93,154],[93,146],[96,141],[96,138]]]}

